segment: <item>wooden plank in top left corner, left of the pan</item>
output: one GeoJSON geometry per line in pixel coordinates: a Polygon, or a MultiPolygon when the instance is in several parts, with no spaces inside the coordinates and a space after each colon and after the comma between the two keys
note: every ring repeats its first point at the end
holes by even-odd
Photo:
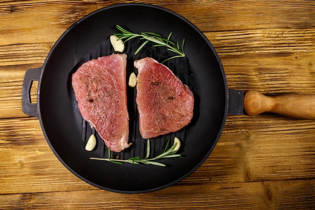
{"type": "Polygon", "coordinates": [[[0,45],[55,42],[75,21],[95,11],[97,5],[82,1],[16,1],[1,4],[0,45]],[[88,7],[90,5],[90,7],[88,7]],[[45,11],[40,13],[38,11],[45,11]],[[38,14],[41,14],[40,17],[38,14]],[[13,24],[19,20],[19,24],[13,24]],[[30,24],[32,23],[32,24],[30,24]],[[47,36],[49,34],[49,36],[47,36]]]}

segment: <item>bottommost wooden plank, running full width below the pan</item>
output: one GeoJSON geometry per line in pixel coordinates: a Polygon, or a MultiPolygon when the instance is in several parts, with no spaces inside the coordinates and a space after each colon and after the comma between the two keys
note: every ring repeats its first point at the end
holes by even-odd
{"type": "Polygon", "coordinates": [[[5,194],[0,209],[301,209],[314,206],[314,180],[175,185],[140,195],[104,190],[5,194]],[[185,192],[185,193],[183,193],[185,192]],[[122,201],[122,202],[119,202],[122,201]]]}

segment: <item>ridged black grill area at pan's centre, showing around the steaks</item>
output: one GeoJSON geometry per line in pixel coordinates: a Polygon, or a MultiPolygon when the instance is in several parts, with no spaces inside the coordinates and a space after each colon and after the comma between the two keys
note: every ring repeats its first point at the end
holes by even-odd
{"type": "MultiPolygon", "coordinates": [[[[111,42],[108,38],[104,38],[106,42],[101,45],[99,44],[95,48],[93,48],[86,55],[86,61],[91,59],[96,59],[100,56],[107,56],[113,53],[117,53],[113,50],[111,46],[111,42]]],[[[123,53],[127,54],[127,78],[132,72],[137,74],[137,69],[133,66],[133,59],[141,59],[144,57],[152,57],[159,62],[163,62],[170,56],[173,56],[173,52],[167,51],[166,47],[153,47],[151,43],[147,43],[144,48],[142,48],[137,55],[133,55],[134,51],[141,45],[141,41],[139,39],[129,40],[125,43],[126,50],[123,53]]],[[[168,60],[165,65],[167,65],[171,71],[185,84],[190,85],[192,80],[192,73],[189,70],[189,61],[187,57],[183,58],[174,58],[168,60]]],[[[190,85],[190,88],[192,86],[190,85]]],[[[140,158],[144,158],[146,155],[146,139],[143,139],[139,133],[139,115],[135,103],[136,98],[136,88],[131,88],[127,85],[127,104],[128,104],[128,113],[129,113],[129,142],[132,145],[125,149],[120,153],[111,152],[111,159],[121,159],[126,160],[132,157],[139,156],[140,158]]],[[[91,128],[89,122],[85,119],[82,119],[82,138],[85,144],[87,144],[88,139],[91,134],[96,135],[97,138],[97,146],[91,152],[91,157],[98,158],[108,158],[108,148],[105,146],[103,139],[101,139],[100,135],[96,132],[95,128],[91,128]]],[[[178,137],[181,139],[181,142],[185,142],[185,127],[181,130],[169,133],[161,136],[157,136],[155,138],[150,138],[150,158],[154,156],[160,155],[163,153],[167,142],[170,140],[171,145],[174,143],[174,137],[178,137]]],[[[183,144],[184,145],[184,144],[183,144]]],[[[125,163],[127,164],[127,163],[125,163]]]]}

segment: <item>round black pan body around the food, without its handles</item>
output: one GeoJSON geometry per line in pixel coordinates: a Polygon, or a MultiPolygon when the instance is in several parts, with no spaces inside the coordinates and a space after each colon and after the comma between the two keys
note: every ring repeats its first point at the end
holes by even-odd
{"type": "MultiPolygon", "coordinates": [[[[127,75],[136,71],[133,61],[151,56],[159,61],[169,56],[163,48],[149,45],[134,55],[139,41],[126,45],[127,75]]],[[[228,88],[218,55],[208,39],[180,15],[146,4],[119,4],[100,9],[75,22],[57,40],[42,67],[38,86],[38,117],[49,146],[73,174],[102,189],[121,193],[143,193],[171,186],[194,172],[210,155],[222,132],[228,88]],[[153,165],[116,165],[90,157],[107,158],[107,148],[98,136],[96,150],[85,150],[92,130],[81,117],[71,87],[71,75],[84,62],[113,53],[109,36],[117,33],[115,25],[133,32],[156,32],[172,40],[185,38],[186,58],[166,63],[189,87],[195,97],[192,123],[183,130],[151,139],[151,155],[160,154],[168,138],[177,136],[182,158],[160,160],[167,167],[153,165]]],[[[135,90],[128,88],[130,142],[133,145],[118,154],[128,159],[145,152],[145,139],[137,127],[135,90]]],[[[117,154],[111,154],[115,156],[117,154]]]]}

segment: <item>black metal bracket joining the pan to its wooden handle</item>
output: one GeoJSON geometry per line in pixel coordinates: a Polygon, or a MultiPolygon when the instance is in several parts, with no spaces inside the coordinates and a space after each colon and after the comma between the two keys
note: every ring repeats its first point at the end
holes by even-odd
{"type": "Polygon", "coordinates": [[[227,115],[242,115],[244,113],[244,92],[228,89],[227,115]]]}

